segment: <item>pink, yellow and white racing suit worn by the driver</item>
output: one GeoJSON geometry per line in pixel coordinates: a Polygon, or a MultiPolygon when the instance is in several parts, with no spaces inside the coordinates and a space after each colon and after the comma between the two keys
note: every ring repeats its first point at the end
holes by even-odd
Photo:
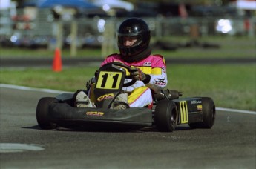
{"type": "MultiPolygon", "coordinates": [[[[128,105],[130,107],[151,107],[153,105],[152,92],[158,92],[167,85],[165,59],[160,55],[150,55],[138,62],[125,62],[119,54],[108,56],[101,66],[111,62],[121,62],[130,67],[138,67],[143,73],[150,75],[148,82],[137,81],[129,87],[122,87],[128,93],[128,105]]],[[[131,79],[125,79],[125,83],[131,79]]]]}

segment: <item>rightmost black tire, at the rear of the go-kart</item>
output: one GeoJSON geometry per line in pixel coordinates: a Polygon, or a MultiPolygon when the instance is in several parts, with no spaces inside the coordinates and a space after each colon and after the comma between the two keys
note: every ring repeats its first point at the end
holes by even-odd
{"type": "Polygon", "coordinates": [[[214,101],[209,97],[202,98],[203,122],[188,124],[191,128],[211,128],[215,122],[216,110],[214,101]]]}

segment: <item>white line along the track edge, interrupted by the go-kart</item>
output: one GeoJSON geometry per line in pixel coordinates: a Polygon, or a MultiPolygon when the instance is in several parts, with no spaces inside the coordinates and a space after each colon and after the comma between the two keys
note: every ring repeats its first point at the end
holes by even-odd
{"type": "MultiPolygon", "coordinates": [[[[12,84],[0,84],[0,87],[12,88],[12,89],[18,89],[18,90],[42,91],[47,93],[71,93],[71,92],[62,91],[62,90],[40,89],[40,88],[34,88],[34,87],[17,86],[12,84]]],[[[216,107],[216,110],[256,115],[256,111],[249,111],[249,110],[238,110],[238,109],[223,108],[223,107],[216,107]]]]}

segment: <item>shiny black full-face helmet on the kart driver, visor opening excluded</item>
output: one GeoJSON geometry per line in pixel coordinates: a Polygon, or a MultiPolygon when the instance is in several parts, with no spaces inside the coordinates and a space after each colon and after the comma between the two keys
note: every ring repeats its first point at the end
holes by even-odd
{"type": "Polygon", "coordinates": [[[117,31],[117,45],[122,59],[126,62],[136,62],[148,57],[151,54],[150,38],[150,30],[144,20],[131,18],[123,21],[117,31]],[[132,46],[125,46],[124,36],[137,36],[137,42],[132,46]]]}

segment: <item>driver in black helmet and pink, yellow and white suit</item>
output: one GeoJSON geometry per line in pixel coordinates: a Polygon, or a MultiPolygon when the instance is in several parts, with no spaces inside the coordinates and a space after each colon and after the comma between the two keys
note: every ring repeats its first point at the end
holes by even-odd
{"type": "MultiPolygon", "coordinates": [[[[161,55],[151,54],[150,39],[148,24],[142,19],[130,18],[120,24],[117,31],[119,54],[111,54],[101,66],[111,62],[126,64],[131,67],[131,79],[136,79],[137,82],[129,87],[122,87],[123,93],[116,98],[119,102],[116,102],[116,105],[113,104],[111,108],[151,108],[152,93],[159,92],[167,85],[165,59],[161,55]]],[[[125,79],[125,81],[128,82],[131,79],[125,79]]],[[[95,107],[93,87],[89,89],[88,96],[84,90],[77,91],[76,106],[95,107]]]]}

